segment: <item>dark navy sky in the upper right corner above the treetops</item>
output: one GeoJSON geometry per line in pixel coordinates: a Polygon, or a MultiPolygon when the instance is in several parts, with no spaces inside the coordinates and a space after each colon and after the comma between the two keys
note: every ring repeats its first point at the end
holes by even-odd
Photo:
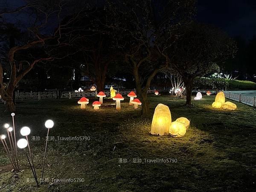
{"type": "Polygon", "coordinates": [[[256,0],[198,0],[197,19],[213,24],[231,37],[256,35],[256,0]]]}

